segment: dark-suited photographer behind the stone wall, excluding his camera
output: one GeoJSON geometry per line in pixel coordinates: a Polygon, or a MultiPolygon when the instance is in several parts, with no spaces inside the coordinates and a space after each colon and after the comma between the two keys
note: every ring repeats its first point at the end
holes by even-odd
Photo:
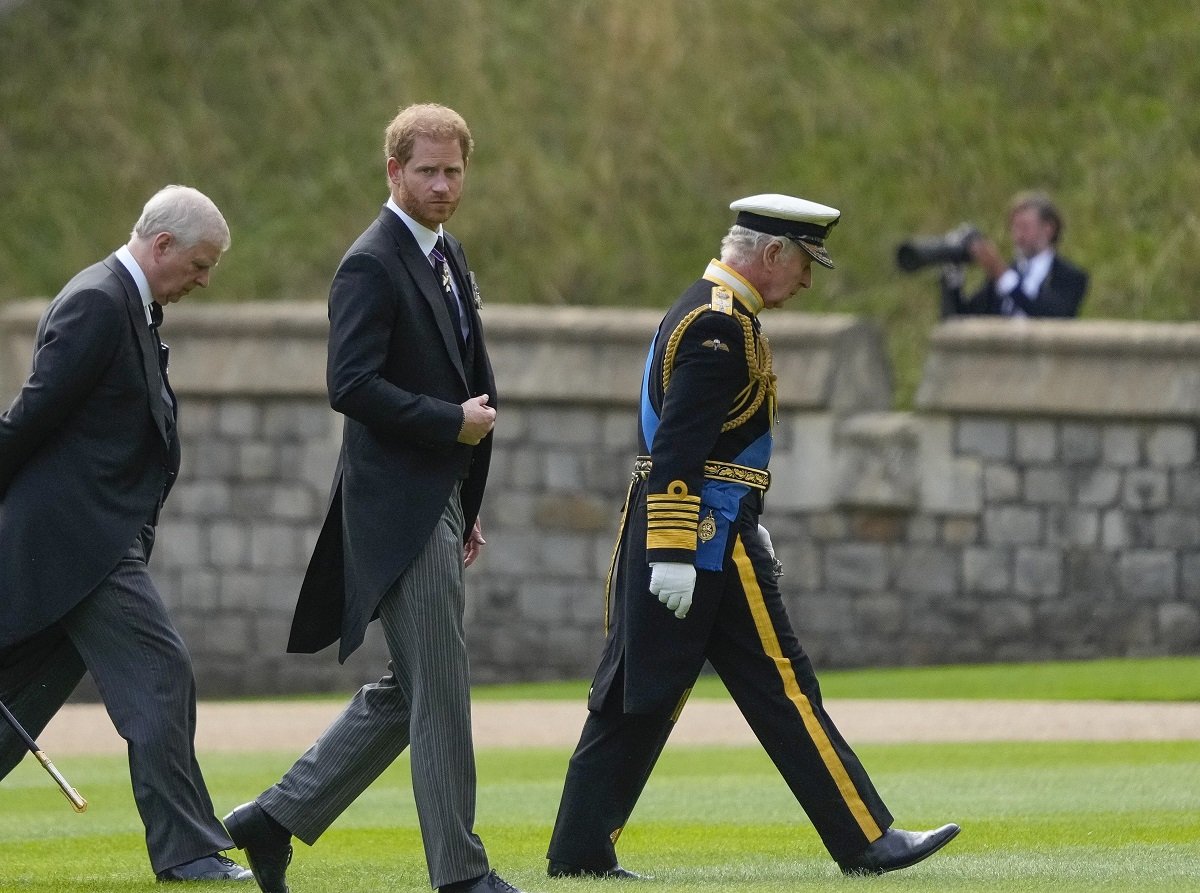
{"type": "Polygon", "coordinates": [[[962,298],[964,268],[942,268],[942,318],[958,314],[1074,317],[1087,290],[1087,272],[1056,252],[1062,216],[1044,192],[1019,192],[1009,203],[1008,230],[1015,257],[1006,264],[995,244],[973,234],[965,250],[986,278],[962,298]]]}

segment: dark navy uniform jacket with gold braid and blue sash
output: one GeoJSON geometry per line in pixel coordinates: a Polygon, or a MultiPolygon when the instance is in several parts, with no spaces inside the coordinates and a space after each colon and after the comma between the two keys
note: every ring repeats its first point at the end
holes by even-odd
{"type": "Polygon", "coordinates": [[[757,292],[714,260],[654,336],[638,421],[648,471],[635,474],[626,501],[593,709],[618,678],[626,712],[671,709],[703,664],[716,610],[704,591],[721,585],[731,531],[757,529],[761,487],[742,481],[766,477],[770,459],[775,386],[761,308],[757,292]],[[650,562],[696,564],[683,621],[650,594],[650,562]]]}

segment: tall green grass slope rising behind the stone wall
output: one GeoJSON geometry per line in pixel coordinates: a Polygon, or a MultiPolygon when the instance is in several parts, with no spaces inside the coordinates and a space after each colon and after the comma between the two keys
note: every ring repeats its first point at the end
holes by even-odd
{"type": "MultiPolygon", "coordinates": [[[[485,299],[662,306],[728,202],[844,211],[794,304],[878,319],[901,402],[936,320],[906,235],[1052,191],[1084,314],[1200,311],[1200,54],[1174,0],[42,0],[0,11],[0,299],[53,294],[160,185],[226,211],[212,300],[322,299],[438,100],[478,155],[454,222],[485,299]]],[[[1007,247],[1007,246],[1006,246],[1007,247]]]]}

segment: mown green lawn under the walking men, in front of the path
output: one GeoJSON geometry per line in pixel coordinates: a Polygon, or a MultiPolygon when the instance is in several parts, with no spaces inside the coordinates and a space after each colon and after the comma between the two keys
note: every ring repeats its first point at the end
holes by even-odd
{"type": "MultiPolygon", "coordinates": [[[[218,811],[274,781],[290,754],[203,757],[218,811]]],[[[1186,891],[1200,888],[1200,742],[892,745],[860,749],[901,827],[958,821],[943,853],[886,879],[842,879],[756,748],[668,748],[620,843],[647,893],[775,891],[1186,891]]],[[[527,891],[551,881],[545,846],[565,750],[482,750],[478,829],[527,891]]],[[[122,759],[72,757],[91,801],[74,815],[25,761],[0,783],[0,891],[149,889],[122,759]]],[[[294,893],[427,888],[401,760],[316,847],[298,846],[294,893]]]]}

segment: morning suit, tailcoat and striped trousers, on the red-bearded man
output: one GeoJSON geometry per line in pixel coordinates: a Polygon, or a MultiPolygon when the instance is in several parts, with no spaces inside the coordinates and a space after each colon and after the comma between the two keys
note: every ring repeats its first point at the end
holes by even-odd
{"type": "MultiPolygon", "coordinates": [[[[445,244],[458,290],[470,298],[462,247],[449,235],[445,244]]],[[[344,660],[379,617],[391,672],[360,689],[257,798],[269,816],[313,844],[412,744],[414,797],[436,887],[488,871],[473,831],[462,574],[492,438],[469,446],[457,437],[461,404],[488,394],[494,406],[496,386],[474,302],[463,306],[464,350],[430,259],[386,206],[334,277],[328,383],[346,424],[288,651],[316,652],[341,639],[344,660]]]]}

